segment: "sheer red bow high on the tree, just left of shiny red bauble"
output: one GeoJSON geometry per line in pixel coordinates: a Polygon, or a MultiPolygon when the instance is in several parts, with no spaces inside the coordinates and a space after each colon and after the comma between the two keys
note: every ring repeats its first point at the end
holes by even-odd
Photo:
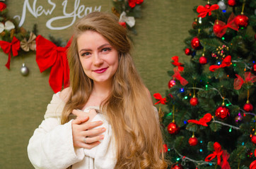
{"type": "Polygon", "coordinates": [[[219,31],[214,32],[216,37],[222,37],[224,34],[226,34],[226,31],[229,28],[238,31],[238,25],[235,25],[235,15],[234,13],[231,13],[231,15],[228,18],[228,23],[223,23],[221,20],[215,20],[214,26],[219,25],[219,31]]]}

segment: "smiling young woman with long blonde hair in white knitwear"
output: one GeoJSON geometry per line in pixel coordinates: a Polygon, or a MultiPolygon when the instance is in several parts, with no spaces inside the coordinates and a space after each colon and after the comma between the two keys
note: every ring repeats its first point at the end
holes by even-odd
{"type": "Polygon", "coordinates": [[[167,168],[157,111],[130,50],[114,15],[76,23],[70,87],[54,94],[28,144],[35,168],[167,168]]]}

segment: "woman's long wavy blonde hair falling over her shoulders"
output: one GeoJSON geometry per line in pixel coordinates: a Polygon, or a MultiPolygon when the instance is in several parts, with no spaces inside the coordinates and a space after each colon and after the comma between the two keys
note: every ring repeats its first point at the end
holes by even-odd
{"type": "Polygon", "coordinates": [[[100,33],[120,55],[119,67],[112,81],[112,91],[100,105],[115,136],[115,168],[167,168],[156,112],[129,54],[131,43],[127,30],[118,24],[115,15],[94,12],[75,25],[68,52],[71,94],[62,112],[62,124],[68,121],[73,109],[83,108],[93,89],[93,80],[83,73],[78,58],[77,38],[86,30],[100,33]]]}

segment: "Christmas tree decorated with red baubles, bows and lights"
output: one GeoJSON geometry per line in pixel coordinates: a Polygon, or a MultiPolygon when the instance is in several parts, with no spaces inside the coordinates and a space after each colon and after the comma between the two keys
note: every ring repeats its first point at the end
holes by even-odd
{"type": "Polygon", "coordinates": [[[170,168],[256,168],[255,0],[194,7],[185,55],[171,57],[170,82],[156,104],[170,168]],[[194,21],[194,22],[193,22],[194,21]]]}

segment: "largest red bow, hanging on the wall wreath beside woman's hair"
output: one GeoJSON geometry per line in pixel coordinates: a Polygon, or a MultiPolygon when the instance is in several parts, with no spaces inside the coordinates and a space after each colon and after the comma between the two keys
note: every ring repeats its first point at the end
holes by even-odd
{"type": "Polygon", "coordinates": [[[47,68],[52,66],[49,77],[49,84],[54,93],[62,89],[62,82],[64,87],[69,86],[69,64],[66,58],[66,50],[68,49],[71,39],[65,47],[56,46],[54,43],[38,35],[36,42],[36,61],[42,73],[47,68]]]}

